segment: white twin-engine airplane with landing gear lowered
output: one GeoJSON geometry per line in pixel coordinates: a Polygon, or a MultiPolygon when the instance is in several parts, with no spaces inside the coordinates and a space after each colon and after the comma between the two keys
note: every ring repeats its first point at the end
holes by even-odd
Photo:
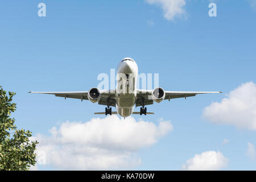
{"type": "Polygon", "coordinates": [[[105,112],[94,114],[112,115],[118,114],[121,117],[129,117],[131,114],[154,114],[147,112],[146,105],[160,103],[163,100],[170,101],[174,98],[185,99],[187,97],[196,96],[196,94],[207,93],[222,93],[222,92],[179,92],[179,91],[165,91],[163,88],[155,88],[153,90],[142,90],[135,88],[137,85],[138,65],[130,57],[125,57],[117,66],[117,87],[114,90],[99,90],[96,87],[89,89],[89,91],[80,92],[28,92],[40,94],[53,94],[56,97],[76,98],[82,100],[89,100],[99,105],[105,105],[105,112]],[[117,111],[112,111],[112,107],[117,111]],[[134,106],[141,106],[139,112],[134,111],[134,106]]]}

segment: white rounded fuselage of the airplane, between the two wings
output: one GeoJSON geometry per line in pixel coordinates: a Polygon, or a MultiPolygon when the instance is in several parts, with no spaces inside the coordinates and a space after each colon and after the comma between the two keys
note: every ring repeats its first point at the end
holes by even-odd
{"type": "Polygon", "coordinates": [[[129,57],[117,66],[116,110],[122,117],[133,113],[136,102],[138,65],[129,57]]]}

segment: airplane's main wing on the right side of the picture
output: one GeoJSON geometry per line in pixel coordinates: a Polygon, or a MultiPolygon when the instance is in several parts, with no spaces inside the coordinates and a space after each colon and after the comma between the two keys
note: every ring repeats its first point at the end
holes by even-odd
{"type": "MultiPolygon", "coordinates": [[[[143,100],[144,105],[151,105],[154,103],[151,97],[151,93],[153,90],[138,90],[137,91],[137,101],[136,101],[136,107],[142,106],[143,100]]],[[[182,92],[182,91],[165,91],[166,96],[164,97],[164,100],[169,100],[173,98],[187,98],[187,97],[193,97],[197,94],[208,94],[208,93],[222,93],[222,92],[182,92]]]]}

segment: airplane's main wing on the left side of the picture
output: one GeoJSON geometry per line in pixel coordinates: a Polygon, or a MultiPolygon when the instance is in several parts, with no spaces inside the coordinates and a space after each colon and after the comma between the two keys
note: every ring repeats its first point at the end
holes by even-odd
{"type": "MultiPolygon", "coordinates": [[[[108,100],[110,106],[115,106],[115,92],[113,90],[101,90],[101,98],[98,101],[100,105],[108,105],[108,100]]],[[[76,98],[82,100],[88,100],[88,91],[79,92],[28,92],[28,93],[40,93],[40,94],[53,94],[56,97],[66,98],[76,98]]]]}

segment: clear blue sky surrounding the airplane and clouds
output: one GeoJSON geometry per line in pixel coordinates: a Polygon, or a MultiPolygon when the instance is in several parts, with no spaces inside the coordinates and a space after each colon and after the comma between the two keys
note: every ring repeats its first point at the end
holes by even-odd
{"type": "Polygon", "coordinates": [[[210,1],[184,1],[184,13],[172,20],[164,18],[161,5],[148,2],[1,1],[0,85],[16,92],[16,125],[50,135],[65,121],[95,118],[104,106],[27,92],[89,90],[99,73],[110,74],[129,56],[139,73],[159,73],[165,90],[223,92],[163,101],[147,106],[155,115],[133,116],[155,125],[163,118],[174,129],[133,152],[141,163],[132,169],[179,170],[195,154],[220,151],[228,159],[223,169],[255,170],[246,150],[247,142],[256,145],[256,131],[202,117],[212,102],[256,82],[253,1],[215,1],[217,17],[208,15],[210,1]],[[40,2],[46,17],[38,16],[40,2]],[[222,144],[224,139],[229,142],[222,144]]]}

